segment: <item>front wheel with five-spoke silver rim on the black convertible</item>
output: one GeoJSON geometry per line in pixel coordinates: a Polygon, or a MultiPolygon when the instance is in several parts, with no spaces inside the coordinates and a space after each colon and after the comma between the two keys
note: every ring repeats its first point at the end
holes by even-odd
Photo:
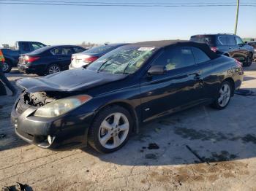
{"type": "Polygon", "coordinates": [[[115,152],[127,143],[132,126],[133,120],[127,109],[108,106],[97,114],[89,128],[89,145],[98,152],[115,152]]]}

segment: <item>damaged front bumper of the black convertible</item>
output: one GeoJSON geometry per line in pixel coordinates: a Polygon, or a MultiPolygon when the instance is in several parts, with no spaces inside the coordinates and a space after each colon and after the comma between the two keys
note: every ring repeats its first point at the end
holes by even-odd
{"type": "Polygon", "coordinates": [[[23,112],[19,112],[18,104],[19,99],[13,106],[11,121],[15,133],[24,141],[48,149],[86,146],[93,112],[80,116],[70,112],[59,117],[36,117],[36,107],[28,106],[23,112]]]}

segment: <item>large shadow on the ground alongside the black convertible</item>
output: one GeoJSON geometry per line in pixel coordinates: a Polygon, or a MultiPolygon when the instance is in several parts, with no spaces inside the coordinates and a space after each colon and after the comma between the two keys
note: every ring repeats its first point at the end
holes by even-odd
{"type": "Polygon", "coordinates": [[[83,151],[120,165],[213,163],[256,157],[256,125],[253,115],[247,115],[256,109],[252,99],[235,95],[222,111],[199,106],[155,120],[144,125],[118,152],[99,154],[90,147],[83,151]],[[250,105],[248,113],[243,112],[246,105],[250,105]]]}

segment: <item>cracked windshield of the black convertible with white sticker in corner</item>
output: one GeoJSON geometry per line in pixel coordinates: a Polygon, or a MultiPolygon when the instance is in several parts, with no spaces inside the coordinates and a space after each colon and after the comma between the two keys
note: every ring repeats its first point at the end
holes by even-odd
{"type": "Polygon", "coordinates": [[[119,47],[91,63],[87,69],[109,74],[132,74],[155,50],[154,47],[119,47]]]}

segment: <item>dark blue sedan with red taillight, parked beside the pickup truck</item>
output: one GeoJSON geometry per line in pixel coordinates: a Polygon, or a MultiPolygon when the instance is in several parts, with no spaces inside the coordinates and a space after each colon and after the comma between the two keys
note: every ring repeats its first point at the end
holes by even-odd
{"type": "Polygon", "coordinates": [[[71,55],[83,52],[79,46],[61,45],[42,47],[25,55],[20,55],[18,69],[26,74],[53,74],[69,68],[71,55]]]}

